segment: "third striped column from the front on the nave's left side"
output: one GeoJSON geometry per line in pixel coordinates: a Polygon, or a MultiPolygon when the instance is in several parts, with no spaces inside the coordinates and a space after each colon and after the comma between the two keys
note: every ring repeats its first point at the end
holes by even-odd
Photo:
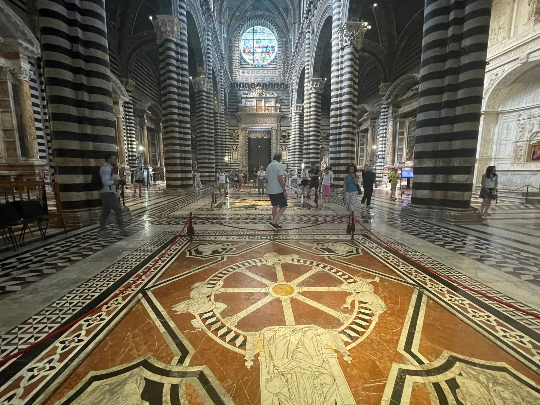
{"type": "Polygon", "coordinates": [[[212,79],[194,77],[191,82],[195,91],[195,117],[197,117],[197,163],[201,181],[208,183],[215,178],[212,79]]]}

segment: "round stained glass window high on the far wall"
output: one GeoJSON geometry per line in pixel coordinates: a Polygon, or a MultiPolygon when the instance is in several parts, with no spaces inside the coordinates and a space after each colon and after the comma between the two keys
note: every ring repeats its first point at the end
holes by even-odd
{"type": "Polygon", "coordinates": [[[266,66],[278,54],[278,40],[264,26],[248,29],[240,40],[240,52],[252,66],[266,66]]]}

